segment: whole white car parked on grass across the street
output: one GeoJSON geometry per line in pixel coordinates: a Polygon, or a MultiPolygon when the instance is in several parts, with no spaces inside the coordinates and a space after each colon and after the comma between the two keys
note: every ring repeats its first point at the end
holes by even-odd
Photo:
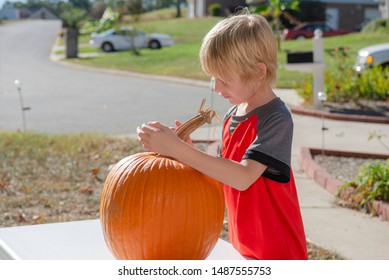
{"type": "Polygon", "coordinates": [[[89,45],[105,52],[135,49],[160,49],[174,44],[173,38],[167,34],[147,34],[132,26],[109,29],[102,33],[92,33],[89,45]]]}

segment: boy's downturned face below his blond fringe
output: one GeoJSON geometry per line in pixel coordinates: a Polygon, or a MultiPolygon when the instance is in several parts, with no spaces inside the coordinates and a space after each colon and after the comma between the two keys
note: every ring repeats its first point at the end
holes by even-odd
{"type": "MultiPolygon", "coordinates": [[[[254,82],[243,82],[239,78],[232,78],[223,81],[219,78],[212,78],[213,90],[215,93],[224,97],[232,105],[238,105],[248,102],[256,95],[254,82]]],[[[211,81],[212,82],[212,81],[211,81]]]]}

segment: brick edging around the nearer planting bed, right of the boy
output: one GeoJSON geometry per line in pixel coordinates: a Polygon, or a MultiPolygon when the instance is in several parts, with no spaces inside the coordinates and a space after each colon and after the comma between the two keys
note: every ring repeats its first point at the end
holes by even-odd
{"type": "MultiPolygon", "coordinates": [[[[308,175],[309,178],[313,179],[318,185],[323,187],[325,190],[329,191],[333,195],[338,194],[339,188],[345,183],[341,180],[338,180],[331,176],[327,171],[325,171],[319,164],[317,164],[312,155],[322,153],[321,149],[307,148],[302,147],[300,149],[299,162],[308,175]]],[[[369,154],[369,153],[359,153],[359,152],[344,152],[338,150],[324,150],[326,155],[333,156],[353,156],[353,157],[362,157],[362,158],[377,158],[377,159],[386,159],[389,155],[380,155],[380,154],[369,154]]],[[[344,198],[348,195],[347,189],[340,193],[340,197],[344,198]]],[[[389,221],[389,203],[382,201],[373,201],[373,208],[375,213],[383,221],[389,221]]]]}

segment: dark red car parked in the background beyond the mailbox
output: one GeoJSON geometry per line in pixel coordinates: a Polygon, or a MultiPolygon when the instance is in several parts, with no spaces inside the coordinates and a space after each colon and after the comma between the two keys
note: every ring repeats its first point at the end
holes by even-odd
{"type": "Polygon", "coordinates": [[[346,29],[332,29],[323,22],[305,22],[292,29],[285,29],[283,35],[285,40],[312,38],[316,29],[320,29],[323,32],[323,37],[343,35],[352,32],[352,30],[346,29]]]}

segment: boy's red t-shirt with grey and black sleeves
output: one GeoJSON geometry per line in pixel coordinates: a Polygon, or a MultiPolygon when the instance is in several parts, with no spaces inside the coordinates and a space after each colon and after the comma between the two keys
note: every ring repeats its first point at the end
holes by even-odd
{"type": "Polygon", "coordinates": [[[280,99],[275,99],[247,116],[234,117],[230,111],[225,119],[221,155],[238,162],[243,158],[257,160],[268,168],[245,191],[224,185],[232,245],[249,258],[307,259],[297,191],[288,162],[292,131],[285,130],[293,130],[289,111],[280,99]],[[277,130],[278,136],[274,136],[277,130]],[[281,144],[284,146],[277,149],[281,144]],[[289,150],[289,154],[279,150],[289,150]]]}

